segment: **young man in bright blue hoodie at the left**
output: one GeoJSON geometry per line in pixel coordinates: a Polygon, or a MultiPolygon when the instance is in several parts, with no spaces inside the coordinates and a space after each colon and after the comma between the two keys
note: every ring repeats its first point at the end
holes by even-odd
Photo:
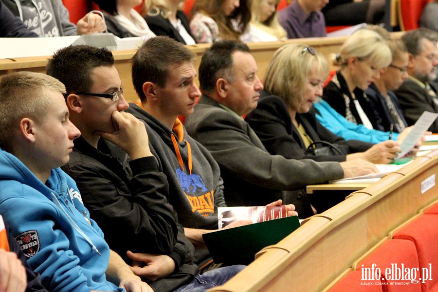
{"type": "Polygon", "coordinates": [[[80,135],[63,84],[18,72],[0,79],[0,91],[0,214],[42,284],[49,291],[152,291],[110,251],[76,183],[59,168],[80,135]]]}

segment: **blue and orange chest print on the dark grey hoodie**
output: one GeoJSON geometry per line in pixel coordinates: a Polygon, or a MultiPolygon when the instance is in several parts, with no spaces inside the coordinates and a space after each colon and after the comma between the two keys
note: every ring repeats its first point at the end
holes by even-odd
{"type": "Polygon", "coordinates": [[[204,217],[208,217],[215,211],[213,190],[207,192],[205,183],[198,174],[186,174],[180,168],[176,171],[178,180],[181,183],[184,194],[192,206],[192,212],[198,211],[204,217]],[[202,195],[196,195],[197,192],[206,192],[202,195]],[[194,196],[189,196],[193,194],[194,196]]]}

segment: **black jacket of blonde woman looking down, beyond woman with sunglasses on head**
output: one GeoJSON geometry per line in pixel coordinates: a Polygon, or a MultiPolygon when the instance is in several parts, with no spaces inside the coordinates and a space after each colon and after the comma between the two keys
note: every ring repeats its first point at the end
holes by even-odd
{"type": "MultiPolygon", "coordinates": [[[[354,105],[353,98],[351,96],[350,91],[348,90],[347,82],[344,79],[344,76],[338,71],[336,72],[336,77],[339,80],[339,84],[341,88],[338,88],[337,85],[330,81],[329,84],[324,88],[323,99],[337,112],[339,112],[344,117],[346,116],[346,104],[344,101],[343,94],[345,93],[348,96],[349,102],[348,107],[351,110],[351,114],[356,119],[356,124],[363,124],[361,118],[359,117],[359,113],[356,110],[356,106],[354,105]]],[[[374,106],[368,100],[363,90],[356,88],[354,90],[354,95],[356,99],[359,101],[362,109],[364,110],[366,116],[368,117],[373,129],[383,131],[383,127],[380,125],[382,122],[380,121],[379,115],[376,113],[374,106]]]]}

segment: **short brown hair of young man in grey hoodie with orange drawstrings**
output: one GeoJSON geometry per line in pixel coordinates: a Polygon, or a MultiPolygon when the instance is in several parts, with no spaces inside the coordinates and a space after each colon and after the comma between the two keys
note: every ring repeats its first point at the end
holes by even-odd
{"type": "Polygon", "coordinates": [[[132,83],[141,101],[146,100],[143,84],[146,81],[164,88],[169,67],[193,62],[195,55],[182,43],[170,37],[151,37],[132,57],[132,83]]]}

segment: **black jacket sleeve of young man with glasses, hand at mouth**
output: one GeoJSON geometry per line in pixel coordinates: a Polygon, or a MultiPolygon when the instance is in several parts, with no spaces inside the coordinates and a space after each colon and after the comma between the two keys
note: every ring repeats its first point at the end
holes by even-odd
{"type": "Polygon", "coordinates": [[[131,161],[129,182],[100,164],[75,160],[77,157],[71,155],[71,163],[64,169],[76,181],[91,218],[103,230],[111,249],[125,260],[127,250],[151,254],[173,251],[178,232],[175,213],[167,202],[166,177],[157,170],[154,157],[131,161]]]}

